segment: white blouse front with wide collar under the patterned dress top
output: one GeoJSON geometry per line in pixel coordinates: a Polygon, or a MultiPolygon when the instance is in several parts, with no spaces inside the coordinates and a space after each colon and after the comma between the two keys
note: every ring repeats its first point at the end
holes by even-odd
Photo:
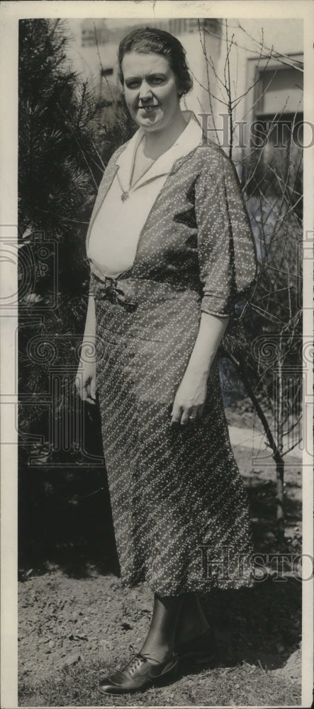
{"type": "Polygon", "coordinates": [[[135,153],[144,136],[142,128],[117,158],[118,171],[96,213],[87,250],[89,259],[106,276],[118,277],[133,265],[141,230],[174,162],[201,143],[201,125],[193,113],[186,113],[189,121],[179,138],[132,187],[135,153]]]}

